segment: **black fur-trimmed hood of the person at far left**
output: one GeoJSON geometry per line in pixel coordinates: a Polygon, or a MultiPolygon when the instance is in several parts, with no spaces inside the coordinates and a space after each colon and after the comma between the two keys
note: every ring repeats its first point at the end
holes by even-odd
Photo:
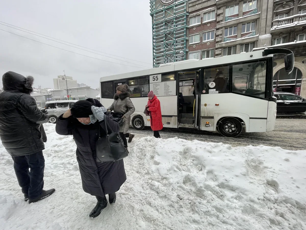
{"type": "Polygon", "coordinates": [[[18,90],[21,93],[31,94],[34,78],[9,71],[2,76],[2,83],[4,90],[18,90]]]}

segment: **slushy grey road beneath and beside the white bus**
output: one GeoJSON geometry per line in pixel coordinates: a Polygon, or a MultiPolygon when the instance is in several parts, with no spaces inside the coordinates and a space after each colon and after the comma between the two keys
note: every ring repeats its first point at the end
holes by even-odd
{"type": "MultiPolygon", "coordinates": [[[[162,138],[178,137],[185,140],[200,140],[207,142],[222,142],[223,144],[230,144],[233,147],[247,146],[247,145],[267,145],[280,146],[289,150],[306,149],[306,119],[297,116],[294,118],[278,118],[276,119],[275,129],[271,132],[263,133],[245,133],[242,132],[236,138],[223,137],[218,133],[195,131],[195,130],[181,130],[181,129],[164,129],[160,132],[162,138]]],[[[131,133],[136,134],[136,137],[153,135],[150,128],[138,131],[130,130],[131,133]]]]}

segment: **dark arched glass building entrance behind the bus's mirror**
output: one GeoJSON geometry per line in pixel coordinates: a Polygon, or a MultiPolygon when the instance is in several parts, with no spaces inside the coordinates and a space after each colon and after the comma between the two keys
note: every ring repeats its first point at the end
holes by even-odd
{"type": "Polygon", "coordinates": [[[300,95],[302,76],[302,71],[297,67],[294,67],[290,74],[285,71],[285,68],[280,69],[273,76],[273,91],[300,95]]]}

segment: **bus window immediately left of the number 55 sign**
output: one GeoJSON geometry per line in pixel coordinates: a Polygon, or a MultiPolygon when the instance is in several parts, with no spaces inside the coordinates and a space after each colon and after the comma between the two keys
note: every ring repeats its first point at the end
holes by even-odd
{"type": "Polygon", "coordinates": [[[147,97],[149,90],[149,77],[140,77],[128,80],[131,98],[147,97]]]}

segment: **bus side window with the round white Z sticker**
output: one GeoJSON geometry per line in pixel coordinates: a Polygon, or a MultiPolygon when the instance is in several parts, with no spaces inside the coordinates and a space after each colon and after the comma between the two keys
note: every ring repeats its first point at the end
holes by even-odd
{"type": "Polygon", "coordinates": [[[205,93],[228,93],[229,75],[230,67],[228,66],[204,69],[204,89],[208,89],[205,93]]]}

